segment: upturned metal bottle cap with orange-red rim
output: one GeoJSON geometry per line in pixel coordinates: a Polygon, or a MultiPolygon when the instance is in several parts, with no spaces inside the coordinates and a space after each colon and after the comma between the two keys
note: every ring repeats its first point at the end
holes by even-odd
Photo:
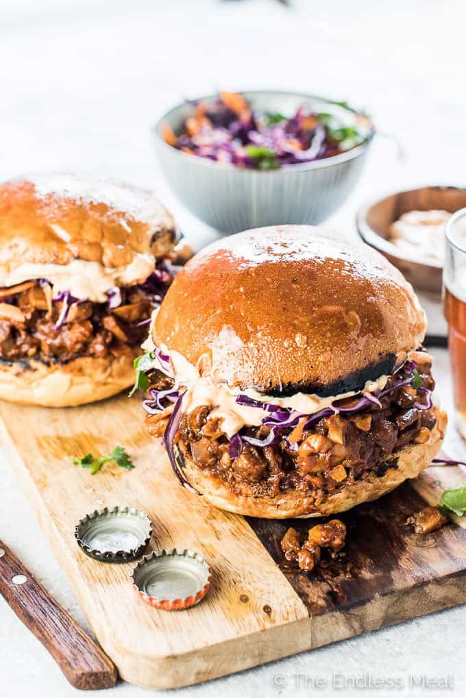
{"type": "Polygon", "coordinates": [[[205,597],[212,570],[191,550],[161,550],[139,560],[133,589],[145,603],[165,611],[188,609],[205,597]]]}

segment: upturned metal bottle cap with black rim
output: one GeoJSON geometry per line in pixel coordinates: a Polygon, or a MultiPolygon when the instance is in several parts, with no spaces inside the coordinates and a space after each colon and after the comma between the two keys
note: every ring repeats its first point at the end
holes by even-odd
{"type": "Polygon", "coordinates": [[[127,563],[140,557],[152,535],[152,522],[134,507],[112,507],[87,514],[75,528],[85,554],[103,563],[127,563]]]}

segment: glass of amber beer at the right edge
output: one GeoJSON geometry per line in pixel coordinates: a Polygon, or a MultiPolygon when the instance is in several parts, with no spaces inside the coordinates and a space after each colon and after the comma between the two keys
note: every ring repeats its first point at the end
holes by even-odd
{"type": "Polygon", "coordinates": [[[449,325],[449,351],[456,426],[466,439],[466,209],[446,223],[444,315],[449,325]]]}

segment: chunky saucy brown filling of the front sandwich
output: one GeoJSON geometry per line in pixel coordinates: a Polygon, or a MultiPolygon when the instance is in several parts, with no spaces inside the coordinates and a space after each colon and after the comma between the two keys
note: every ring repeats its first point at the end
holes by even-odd
{"type": "MultiPolygon", "coordinates": [[[[423,385],[433,390],[430,356],[418,352],[416,367],[423,385]]],[[[397,380],[388,379],[386,387],[397,380]]],[[[150,377],[151,387],[165,389],[173,384],[163,373],[150,377]]],[[[357,401],[348,398],[339,406],[351,407],[357,401]]],[[[244,445],[235,459],[228,454],[229,440],[221,429],[221,419],[210,418],[213,408],[201,406],[183,415],[175,436],[175,447],[182,456],[194,461],[197,468],[219,477],[231,491],[243,496],[277,496],[295,490],[314,498],[319,505],[326,496],[371,473],[381,477],[388,468],[398,467],[398,452],[409,445],[425,443],[436,423],[433,409],[419,410],[416,402],[427,404],[425,392],[405,385],[381,397],[381,408],[372,404],[357,414],[324,417],[305,429],[298,452],[291,452],[285,440],[277,445],[244,445]]],[[[170,416],[147,415],[152,436],[163,436],[170,416]]],[[[263,439],[268,426],[246,428],[247,436],[263,439]]],[[[289,430],[284,430],[285,432],[289,430]]]]}

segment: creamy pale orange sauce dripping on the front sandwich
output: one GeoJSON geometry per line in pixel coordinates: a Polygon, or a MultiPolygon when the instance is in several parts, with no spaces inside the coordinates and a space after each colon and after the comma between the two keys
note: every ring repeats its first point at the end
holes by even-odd
{"type": "MultiPolygon", "coordinates": [[[[145,351],[154,350],[154,342],[152,341],[152,325],[154,322],[152,315],[151,332],[148,339],[143,343],[145,351]]],[[[210,417],[219,417],[223,420],[222,429],[231,438],[233,434],[242,429],[243,426],[260,426],[262,420],[267,415],[265,410],[256,407],[247,407],[239,405],[236,402],[238,395],[247,395],[248,397],[261,402],[272,403],[279,407],[290,408],[305,415],[312,415],[319,410],[329,407],[334,401],[346,397],[356,395],[355,391],[341,393],[328,397],[319,397],[298,392],[289,397],[273,397],[263,395],[254,388],[240,390],[232,388],[226,383],[213,385],[209,378],[204,378],[200,375],[196,366],[191,364],[179,352],[170,351],[166,346],[161,345],[161,350],[170,356],[170,360],[175,373],[175,383],[180,388],[185,387],[186,392],[183,395],[182,411],[185,414],[192,412],[196,407],[207,405],[212,407],[210,417]]],[[[155,359],[152,364],[154,369],[160,369],[160,364],[155,359]]],[[[380,376],[377,380],[368,380],[363,388],[364,392],[377,392],[385,387],[390,376],[380,376]]],[[[358,391],[358,393],[361,391],[358,391]]]]}

